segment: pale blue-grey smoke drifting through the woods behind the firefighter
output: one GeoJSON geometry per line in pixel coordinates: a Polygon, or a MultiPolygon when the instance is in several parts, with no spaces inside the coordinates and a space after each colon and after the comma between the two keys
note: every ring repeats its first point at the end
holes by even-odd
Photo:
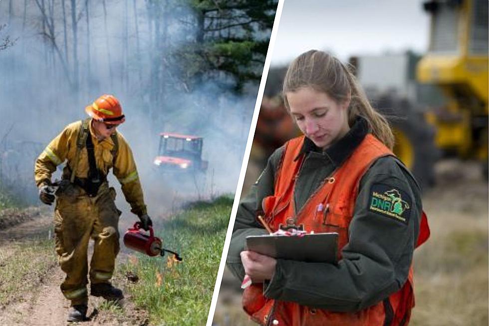
{"type": "MultiPolygon", "coordinates": [[[[182,72],[169,56],[195,33],[182,21],[190,8],[167,12],[158,20],[162,26],[151,18],[151,1],[82,1],[75,12],[75,56],[70,1],[65,2],[63,19],[61,0],[44,1],[43,19],[35,1],[25,7],[14,1],[12,10],[0,1],[0,24],[7,23],[0,39],[16,39],[0,51],[0,184],[14,185],[25,202],[37,203],[35,158],[68,123],[85,118],[86,105],[110,93],[122,103],[126,122],[118,130],[133,150],[150,213],[234,192],[258,85],[247,85],[238,96],[223,88],[230,78],[225,75],[219,83],[206,80],[192,89],[179,80],[182,72]],[[163,131],[204,137],[209,169],[198,182],[179,188],[180,177],[172,181],[157,173],[153,159],[163,131]]],[[[122,198],[118,204],[125,210],[122,198]]]]}

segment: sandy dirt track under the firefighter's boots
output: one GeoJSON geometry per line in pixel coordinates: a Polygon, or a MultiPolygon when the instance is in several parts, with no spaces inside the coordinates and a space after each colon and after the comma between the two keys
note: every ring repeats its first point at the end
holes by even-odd
{"type": "MultiPolygon", "coordinates": [[[[37,252],[36,256],[42,260],[50,260],[45,268],[36,270],[38,264],[30,266],[30,271],[20,279],[3,278],[3,282],[15,282],[16,291],[0,301],[0,325],[8,326],[58,326],[66,325],[69,302],[59,290],[64,273],[55,262],[52,241],[47,248],[39,246],[39,241],[48,241],[52,237],[52,214],[45,210],[39,213],[31,209],[33,218],[25,218],[26,222],[17,224],[0,231],[0,275],[8,271],[11,261],[14,265],[21,265],[25,251],[37,252]],[[43,240],[44,239],[44,240],[43,240]],[[31,249],[29,249],[31,247],[31,249]]],[[[123,286],[125,280],[116,279],[114,283],[123,286]]],[[[11,289],[8,284],[0,282],[0,290],[11,289]]],[[[0,297],[1,298],[1,297],[0,297]]],[[[100,298],[89,298],[89,321],[80,325],[149,325],[148,316],[144,311],[137,310],[130,298],[124,299],[118,305],[107,303],[100,298]]],[[[73,325],[73,324],[69,324],[73,325]]]]}

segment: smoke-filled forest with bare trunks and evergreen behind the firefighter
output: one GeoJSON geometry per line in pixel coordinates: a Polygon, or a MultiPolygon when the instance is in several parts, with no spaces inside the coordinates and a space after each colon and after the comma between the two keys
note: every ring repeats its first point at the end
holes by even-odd
{"type": "MultiPolygon", "coordinates": [[[[36,200],[33,160],[103,93],[122,103],[119,130],[149,200],[159,204],[166,185],[152,166],[162,131],[205,138],[209,178],[199,197],[234,192],[275,7],[270,0],[1,1],[3,205],[36,200]]],[[[165,188],[167,198],[172,191],[165,188]]]]}

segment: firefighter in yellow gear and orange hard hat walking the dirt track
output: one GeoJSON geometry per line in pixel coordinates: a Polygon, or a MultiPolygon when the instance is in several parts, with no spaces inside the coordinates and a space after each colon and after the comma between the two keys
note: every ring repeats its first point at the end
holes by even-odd
{"type": "Polygon", "coordinates": [[[56,198],[54,232],[58,261],[66,278],[61,291],[71,301],[68,321],[86,319],[87,248],[94,240],[90,263],[90,294],[108,300],[123,298],[122,291],[109,280],[119,252],[115,190],[107,183],[111,168],[122,185],[131,212],[144,229],[152,225],[144,204],[143,191],[132,151],[116,127],[125,121],[119,101],[102,95],[85,108],[90,115],[69,124],[54,138],[35,162],[35,181],[40,200],[51,205],[56,198]],[[58,189],[51,174],[66,161],[58,189]]]}

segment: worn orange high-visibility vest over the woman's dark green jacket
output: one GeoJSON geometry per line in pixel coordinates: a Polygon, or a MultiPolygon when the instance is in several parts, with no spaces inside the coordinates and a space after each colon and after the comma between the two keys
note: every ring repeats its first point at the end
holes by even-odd
{"type": "MultiPolygon", "coordinates": [[[[299,155],[303,142],[302,136],[286,144],[282,165],[275,176],[274,195],[264,198],[262,202],[265,221],[273,231],[278,230],[280,224],[295,224],[304,225],[307,232],[337,232],[341,251],[348,243],[348,227],[353,218],[360,179],[378,158],[394,154],[373,135],[367,134],[352,155],[325,179],[295,215],[295,179],[304,155],[294,159],[299,155]],[[320,204],[327,211],[316,216],[320,204]]],[[[429,228],[423,212],[417,246],[428,237],[429,228]]],[[[411,266],[401,290],[383,302],[355,313],[313,309],[293,302],[268,299],[263,296],[261,284],[245,289],[243,307],[253,321],[262,325],[273,325],[272,321],[276,320],[279,326],[404,326],[409,322],[414,307],[413,268],[411,266]]]]}

